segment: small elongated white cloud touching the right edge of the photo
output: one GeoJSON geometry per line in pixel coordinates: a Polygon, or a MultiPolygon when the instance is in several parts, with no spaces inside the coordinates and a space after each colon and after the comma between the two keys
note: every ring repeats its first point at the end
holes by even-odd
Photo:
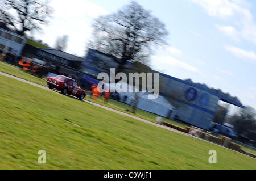
{"type": "Polygon", "coordinates": [[[234,54],[234,56],[247,59],[247,60],[253,60],[256,61],[256,54],[253,51],[247,51],[241,48],[233,47],[233,46],[224,46],[226,50],[234,54]]]}

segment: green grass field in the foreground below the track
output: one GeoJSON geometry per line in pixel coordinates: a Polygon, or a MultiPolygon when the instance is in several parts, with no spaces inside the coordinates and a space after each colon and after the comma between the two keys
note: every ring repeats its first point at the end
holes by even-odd
{"type": "Polygon", "coordinates": [[[256,169],[233,150],[2,75],[0,82],[0,169],[256,169]]]}

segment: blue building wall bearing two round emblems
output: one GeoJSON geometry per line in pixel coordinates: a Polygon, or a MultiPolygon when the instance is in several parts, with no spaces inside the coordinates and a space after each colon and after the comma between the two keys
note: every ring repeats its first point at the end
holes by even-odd
{"type": "Polygon", "coordinates": [[[196,127],[209,128],[220,99],[218,96],[161,75],[159,81],[160,93],[176,107],[178,119],[196,127]]]}

